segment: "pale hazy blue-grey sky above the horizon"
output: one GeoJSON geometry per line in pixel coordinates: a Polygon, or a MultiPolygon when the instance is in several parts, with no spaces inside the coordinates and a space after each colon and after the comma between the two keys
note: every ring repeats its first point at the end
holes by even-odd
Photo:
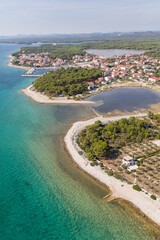
{"type": "Polygon", "coordinates": [[[0,35],[160,30],[160,0],[0,0],[0,35]]]}

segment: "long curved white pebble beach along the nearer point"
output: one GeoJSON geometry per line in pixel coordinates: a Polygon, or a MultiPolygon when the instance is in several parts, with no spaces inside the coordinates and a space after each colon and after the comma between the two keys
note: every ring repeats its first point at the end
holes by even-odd
{"type": "Polygon", "coordinates": [[[72,156],[73,160],[81,167],[85,172],[98,179],[103,184],[107,185],[112,191],[112,196],[117,198],[122,198],[130,201],[134,206],[139,208],[147,217],[152,221],[160,225],[160,200],[152,200],[149,194],[145,192],[138,192],[134,190],[133,185],[129,185],[126,182],[115,179],[114,177],[108,176],[99,166],[92,167],[90,162],[85,157],[85,154],[80,155],[78,151],[82,151],[76,139],[78,133],[85,129],[86,126],[93,124],[95,121],[100,120],[102,123],[108,123],[109,121],[116,121],[122,118],[129,118],[131,116],[143,117],[146,114],[137,114],[137,115],[126,115],[119,117],[110,117],[104,118],[102,116],[95,117],[87,121],[76,122],[67,132],[64,140],[67,146],[67,149],[72,156]]]}

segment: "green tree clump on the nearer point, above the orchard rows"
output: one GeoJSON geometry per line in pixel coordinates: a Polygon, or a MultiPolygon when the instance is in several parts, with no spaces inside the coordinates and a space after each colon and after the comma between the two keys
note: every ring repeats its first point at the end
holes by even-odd
{"type": "Polygon", "coordinates": [[[96,121],[79,133],[78,144],[86,152],[89,160],[104,159],[107,154],[128,143],[142,142],[144,139],[158,137],[152,125],[135,117],[123,118],[103,125],[96,121]]]}

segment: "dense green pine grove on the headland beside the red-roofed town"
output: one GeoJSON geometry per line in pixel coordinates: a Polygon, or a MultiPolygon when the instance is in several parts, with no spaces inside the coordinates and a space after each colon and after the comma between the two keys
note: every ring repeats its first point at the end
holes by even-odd
{"type": "Polygon", "coordinates": [[[102,76],[102,71],[96,68],[60,68],[36,79],[34,88],[49,96],[75,96],[88,91],[88,81],[94,81],[102,76]]]}

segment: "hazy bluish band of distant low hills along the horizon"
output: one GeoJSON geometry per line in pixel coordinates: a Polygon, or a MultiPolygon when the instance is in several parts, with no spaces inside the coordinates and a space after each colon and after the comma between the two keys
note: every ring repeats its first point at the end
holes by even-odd
{"type": "Polygon", "coordinates": [[[160,31],[0,36],[0,43],[77,43],[107,40],[155,40],[160,31]]]}

